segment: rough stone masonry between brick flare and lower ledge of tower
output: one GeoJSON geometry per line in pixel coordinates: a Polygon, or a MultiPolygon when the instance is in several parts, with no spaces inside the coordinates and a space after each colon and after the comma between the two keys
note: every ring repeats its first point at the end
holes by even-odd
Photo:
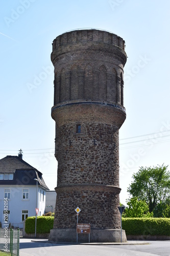
{"type": "Polygon", "coordinates": [[[93,183],[119,185],[118,132],[111,125],[63,125],[56,137],[59,186],[93,183]]]}

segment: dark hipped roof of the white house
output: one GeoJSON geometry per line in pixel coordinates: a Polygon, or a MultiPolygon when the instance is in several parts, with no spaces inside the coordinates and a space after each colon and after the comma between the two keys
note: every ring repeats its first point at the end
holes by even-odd
{"type": "Polygon", "coordinates": [[[42,173],[17,156],[0,159],[0,173],[14,174],[13,180],[0,180],[0,185],[36,185],[34,179],[37,179],[38,185],[49,190],[42,178],[42,173]]]}

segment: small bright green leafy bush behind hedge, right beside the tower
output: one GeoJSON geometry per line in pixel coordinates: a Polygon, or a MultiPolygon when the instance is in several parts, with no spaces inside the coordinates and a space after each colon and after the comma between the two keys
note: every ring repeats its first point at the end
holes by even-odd
{"type": "Polygon", "coordinates": [[[132,197],[128,202],[128,208],[125,209],[123,217],[129,218],[150,218],[153,217],[153,212],[149,212],[149,206],[145,201],[138,200],[137,197],[132,197]]]}

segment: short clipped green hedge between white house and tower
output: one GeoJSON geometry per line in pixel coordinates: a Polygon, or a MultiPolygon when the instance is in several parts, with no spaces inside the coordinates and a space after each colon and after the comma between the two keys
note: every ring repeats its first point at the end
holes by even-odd
{"type": "MultiPolygon", "coordinates": [[[[39,216],[37,217],[37,233],[50,233],[50,229],[53,229],[54,217],[51,216],[39,216]]],[[[26,220],[25,225],[26,233],[35,233],[35,217],[29,217],[26,220]]]]}

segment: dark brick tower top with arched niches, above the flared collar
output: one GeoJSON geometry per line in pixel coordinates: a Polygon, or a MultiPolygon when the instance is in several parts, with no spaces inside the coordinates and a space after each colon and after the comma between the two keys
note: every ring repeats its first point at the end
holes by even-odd
{"type": "Polygon", "coordinates": [[[66,32],[53,41],[51,59],[55,67],[54,105],[88,100],[124,109],[127,55],[123,38],[96,29],[66,32]]]}

